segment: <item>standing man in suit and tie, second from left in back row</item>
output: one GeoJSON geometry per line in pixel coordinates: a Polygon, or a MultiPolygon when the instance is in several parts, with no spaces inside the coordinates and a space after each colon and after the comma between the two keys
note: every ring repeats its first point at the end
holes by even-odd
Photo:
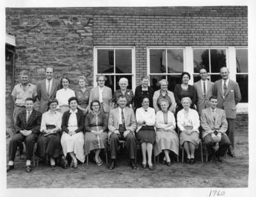
{"type": "Polygon", "coordinates": [[[40,101],[39,111],[44,113],[47,111],[47,103],[56,97],[60,83],[52,78],[53,68],[46,68],[46,78],[39,82],[37,86],[37,98],[40,101]]]}

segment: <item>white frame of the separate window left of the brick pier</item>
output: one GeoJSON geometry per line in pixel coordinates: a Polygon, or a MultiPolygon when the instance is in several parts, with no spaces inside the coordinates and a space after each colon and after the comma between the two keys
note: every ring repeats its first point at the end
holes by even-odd
{"type": "MultiPolygon", "coordinates": [[[[134,46],[95,46],[93,47],[93,87],[97,87],[96,76],[97,75],[131,75],[132,76],[132,91],[135,91],[136,88],[136,66],[135,66],[135,47],[134,46]],[[115,65],[115,50],[116,49],[131,49],[132,51],[132,73],[115,73],[115,66],[114,66],[114,73],[98,73],[98,59],[97,59],[97,50],[98,49],[111,49],[114,50],[114,65],[115,65]]],[[[116,78],[114,77],[114,84],[116,84],[116,78]]],[[[114,86],[114,90],[116,88],[114,86]]]]}

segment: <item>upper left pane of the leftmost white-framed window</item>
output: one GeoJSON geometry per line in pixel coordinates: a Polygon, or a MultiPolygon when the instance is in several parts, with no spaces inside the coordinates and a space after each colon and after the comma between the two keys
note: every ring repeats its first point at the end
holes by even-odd
{"type": "Polygon", "coordinates": [[[98,49],[97,51],[98,73],[114,72],[114,50],[98,49]]]}

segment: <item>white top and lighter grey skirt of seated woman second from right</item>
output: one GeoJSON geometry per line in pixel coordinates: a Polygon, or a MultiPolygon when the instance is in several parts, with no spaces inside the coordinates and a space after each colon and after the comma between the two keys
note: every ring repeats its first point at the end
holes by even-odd
{"type": "Polygon", "coordinates": [[[177,113],[177,126],[180,129],[180,145],[182,146],[184,142],[191,142],[195,147],[198,147],[200,142],[199,140],[199,131],[200,126],[199,115],[196,110],[189,108],[188,112],[184,109],[180,110],[177,113]],[[193,129],[193,133],[188,135],[186,129],[193,129]]]}

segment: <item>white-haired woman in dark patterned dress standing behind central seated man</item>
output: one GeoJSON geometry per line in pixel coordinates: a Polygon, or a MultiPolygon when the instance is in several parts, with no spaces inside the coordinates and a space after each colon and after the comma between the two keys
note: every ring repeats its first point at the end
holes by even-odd
{"type": "Polygon", "coordinates": [[[130,89],[127,89],[128,86],[128,80],[127,78],[120,78],[118,85],[120,89],[116,90],[113,96],[113,103],[115,104],[115,107],[117,107],[117,101],[119,96],[124,95],[127,98],[127,106],[130,108],[134,108],[134,94],[133,91],[130,89]]]}

